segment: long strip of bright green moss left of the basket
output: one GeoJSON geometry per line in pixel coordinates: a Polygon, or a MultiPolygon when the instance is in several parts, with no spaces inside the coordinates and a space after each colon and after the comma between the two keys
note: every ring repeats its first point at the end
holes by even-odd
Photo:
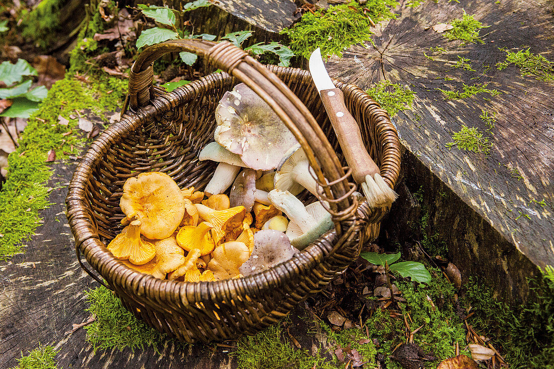
{"type": "Polygon", "coordinates": [[[18,149],[8,157],[8,176],[0,191],[0,260],[21,252],[22,242],[28,240],[41,222],[39,211],[48,207],[46,182],[52,175],[45,162],[48,151],[54,149],[58,159],[76,155],[81,136],[69,134],[78,131],[78,120],[67,126],[58,124],[58,116],[66,119],[75,111],[90,109],[107,121],[105,111],[115,110],[121,104],[125,81],[115,78],[98,79],[83,85],[66,77],[57,81],[48,96],[28,120],[19,139],[18,149]],[[111,94],[106,91],[112,90],[111,94]]]}

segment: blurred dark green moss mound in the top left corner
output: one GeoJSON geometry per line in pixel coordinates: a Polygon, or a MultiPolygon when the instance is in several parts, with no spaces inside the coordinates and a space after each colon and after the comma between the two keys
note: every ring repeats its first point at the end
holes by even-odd
{"type": "Polygon", "coordinates": [[[43,0],[37,7],[23,17],[24,38],[32,39],[40,48],[46,49],[56,40],[60,22],[58,12],[63,6],[63,0],[43,0]]]}

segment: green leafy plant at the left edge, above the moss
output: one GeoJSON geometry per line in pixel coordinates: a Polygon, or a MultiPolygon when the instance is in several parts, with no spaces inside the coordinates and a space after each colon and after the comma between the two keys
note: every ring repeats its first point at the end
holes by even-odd
{"type": "Polygon", "coordinates": [[[48,90],[44,86],[30,89],[35,75],[37,70],[23,59],[17,59],[16,64],[9,61],[0,64],[0,81],[8,86],[0,88],[0,99],[12,100],[12,106],[0,116],[28,118],[37,111],[48,90]]]}

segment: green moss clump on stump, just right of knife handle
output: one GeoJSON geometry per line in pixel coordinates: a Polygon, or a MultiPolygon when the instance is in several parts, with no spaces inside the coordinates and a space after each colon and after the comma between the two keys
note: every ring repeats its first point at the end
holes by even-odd
{"type": "Polygon", "coordinates": [[[375,87],[366,90],[381,107],[388,112],[389,116],[394,116],[398,111],[410,109],[412,107],[416,93],[408,88],[389,81],[379,81],[375,87]]]}

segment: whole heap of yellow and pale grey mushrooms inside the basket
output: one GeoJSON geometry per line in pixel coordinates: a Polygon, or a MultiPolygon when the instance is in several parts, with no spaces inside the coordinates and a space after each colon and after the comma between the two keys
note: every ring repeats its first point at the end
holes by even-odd
{"type": "Polygon", "coordinates": [[[269,105],[239,84],[220,100],[216,120],[217,142],[198,155],[219,162],[204,192],[181,190],[160,172],[126,181],[128,225],[108,248],[131,268],[186,281],[235,278],[288,260],[332,228],[319,202],[305,207],[296,198],[304,188],[315,194],[316,182],[269,105]]]}

